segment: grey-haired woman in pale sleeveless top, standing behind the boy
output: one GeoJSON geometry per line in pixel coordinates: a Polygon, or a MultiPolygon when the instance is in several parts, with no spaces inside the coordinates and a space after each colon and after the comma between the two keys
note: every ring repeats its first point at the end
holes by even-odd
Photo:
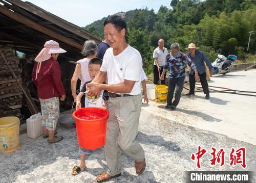
{"type": "MultiPolygon", "coordinates": [[[[76,83],[78,78],[81,80],[80,90],[82,89],[82,86],[84,85],[84,83],[91,81],[88,65],[90,60],[96,57],[97,48],[98,48],[97,44],[93,40],[88,40],[83,44],[82,55],[85,58],[78,60],[76,62],[76,68],[71,79],[71,91],[72,91],[74,101],[76,101],[76,97],[77,97],[76,83]]],[[[81,99],[81,107],[84,108],[84,96],[81,99]]]]}

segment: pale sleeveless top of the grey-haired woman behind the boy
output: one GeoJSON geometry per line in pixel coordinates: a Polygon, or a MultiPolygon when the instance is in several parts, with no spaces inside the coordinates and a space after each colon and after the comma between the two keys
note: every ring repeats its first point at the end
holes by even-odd
{"type": "Polygon", "coordinates": [[[82,89],[84,83],[92,80],[89,73],[89,62],[90,59],[88,58],[84,58],[76,62],[81,65],[81,75],[79,76],[79,79],[81,80],[80,90],[82,89]]]}

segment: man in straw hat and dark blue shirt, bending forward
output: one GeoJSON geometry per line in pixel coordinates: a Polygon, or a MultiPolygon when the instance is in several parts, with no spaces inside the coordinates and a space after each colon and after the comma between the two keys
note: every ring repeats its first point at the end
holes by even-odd
{"type": "MultiPolygon", "coordinates": [[[[187,56],[191,61],[195,63],[197,66],[197,71],[200,77],[200,82],[205,94],[205,98],[209,99],[210,98],[210,92],[209,92],[209,87],[208,83],[206,80],[206,68],[204,65],[204,62],[207,64],[209,67],[210,72],[212,73],[212,65],[209,61],[209,59],[205,56],[205,54],[202,51],[198,50],[199,47],[196,47],[194,43],[190,43],[186,49],[188,49],[187,56]]],[[[194,97],[195,96],[195,85],[196,85],[196,80],[195,80],[195,73],[194,70],[191,69],[189,73],[189,93],[187,93],[187,96],[194,97]]]]}

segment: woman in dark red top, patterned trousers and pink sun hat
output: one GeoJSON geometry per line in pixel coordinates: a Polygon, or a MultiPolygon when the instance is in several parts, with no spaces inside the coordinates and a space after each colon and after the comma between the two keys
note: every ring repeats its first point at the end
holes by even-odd
{"type": "Polygon", "coordinates": [[[60,66],[56,60],[59,54],[66,52],[56,41],[47,41],[35,58],[36,63],[32,73],[41,105],[43,137],[48,138],[48,143],[63,139],[62,136],[54,136],[59,117],[59,96],[61,101],[66,98],[60,66]]]}

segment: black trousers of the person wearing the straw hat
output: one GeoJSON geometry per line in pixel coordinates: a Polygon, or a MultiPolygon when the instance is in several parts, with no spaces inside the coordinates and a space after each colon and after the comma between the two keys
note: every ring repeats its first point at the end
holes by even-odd
{"type": "MultiPolygon", "coordinates": [[[[199,74],[199,73],[198,73],[199,74]]],[[[206,80],[206,72],[199,74],[200,82],[204,91],[204,94],[209,94],[209,86],[206,80]]],[[[195,79],[195,72],[194,74],[189,74],[189,93],[195,94],[195,86],[196,86],[196,79],[195,79]]]]}

